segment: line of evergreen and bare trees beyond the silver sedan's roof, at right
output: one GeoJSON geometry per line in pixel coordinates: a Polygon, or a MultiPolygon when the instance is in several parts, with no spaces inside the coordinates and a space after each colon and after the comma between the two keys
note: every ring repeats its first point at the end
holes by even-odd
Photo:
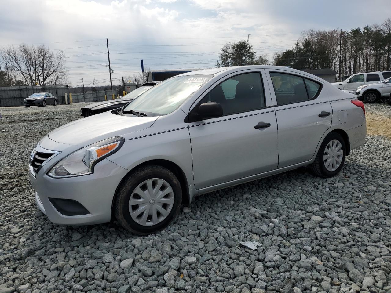
{"type": "Polygon", "coordinates": [[[341,77],[391,70],[391,18],[362,29],[304,30],[293,48],[275,52],[271,61],[266,54],[257,57],[247,41],[226,43],[216,67],[258,64],[296,69],[332,68],[337,72],[341,68],[341,77]]]}

